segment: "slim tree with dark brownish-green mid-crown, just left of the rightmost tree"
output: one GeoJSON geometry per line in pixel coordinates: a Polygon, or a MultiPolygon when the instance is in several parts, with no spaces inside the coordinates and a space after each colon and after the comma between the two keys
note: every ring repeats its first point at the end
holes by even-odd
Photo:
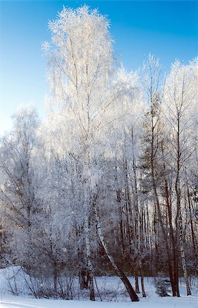
{"type": "MultiPolygon", "coordinates": [[[[167,264],[169,268],[169,277],[173,296],[179,295],[178,290],[178,269],[175,268],[173,274],[173,261],[169,246],[169,237],[164,221],[164,213],[161,207],[159,188],[162,186],[164,168],[162,162],[161,147],[164,142],[164,120],[162,118],[162,81],[161,66],[158,59],[149,55],[147,62],[144,62],[142,82],[145,90],[147,107],[143,116],[143,176],[142,185],[146,195],[152,194],[151,201],[154,204],[154,242],[156,242],[156,220],[159,222],[163,241],[165,242],[165,253],[167,255],[167,264]]],[[[157,246],[156,246],[157,247],[157,246]]]]}

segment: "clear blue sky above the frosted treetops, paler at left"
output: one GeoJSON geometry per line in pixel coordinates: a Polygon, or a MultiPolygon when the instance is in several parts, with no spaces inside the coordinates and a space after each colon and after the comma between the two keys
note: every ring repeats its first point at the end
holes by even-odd
{"type": "Polygon", "coordinates": [[[128,70],[150,52],[169,70],[175,58],[197,56],[197,1],[9,1],[0,0],[0,135],[20,103],[35,103],[42,116],[48,88],[41,44],[48,20],[63,5],[86,3],[111,20],[115,55],[128,70]]]}

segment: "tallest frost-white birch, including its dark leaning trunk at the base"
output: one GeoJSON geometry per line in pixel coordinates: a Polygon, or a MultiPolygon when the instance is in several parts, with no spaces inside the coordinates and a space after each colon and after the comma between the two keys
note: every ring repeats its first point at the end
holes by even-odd
{"type": "Polygon", "coordinates": [[[109,21],[85,5],[76,10],[63,8],[57,20],[49,23],[49,28],[52,39],[45,47],[49,47],[48,79],[52,90],[49,105],[53,111],[49,114],[48,129],[52,132],[54,151],[65,159],[70,153],[77,166],[83,216],[76,213],[76,217],[83,220],[90,299],[95,300],[90,232],[96,219],[104,251],[126,285],[130,298],[138,300],[107,249],[96,205],[102,157],[109,155],[105,141],[115,121],[113,107],[120,94],[113,75],[109,21]]]}

